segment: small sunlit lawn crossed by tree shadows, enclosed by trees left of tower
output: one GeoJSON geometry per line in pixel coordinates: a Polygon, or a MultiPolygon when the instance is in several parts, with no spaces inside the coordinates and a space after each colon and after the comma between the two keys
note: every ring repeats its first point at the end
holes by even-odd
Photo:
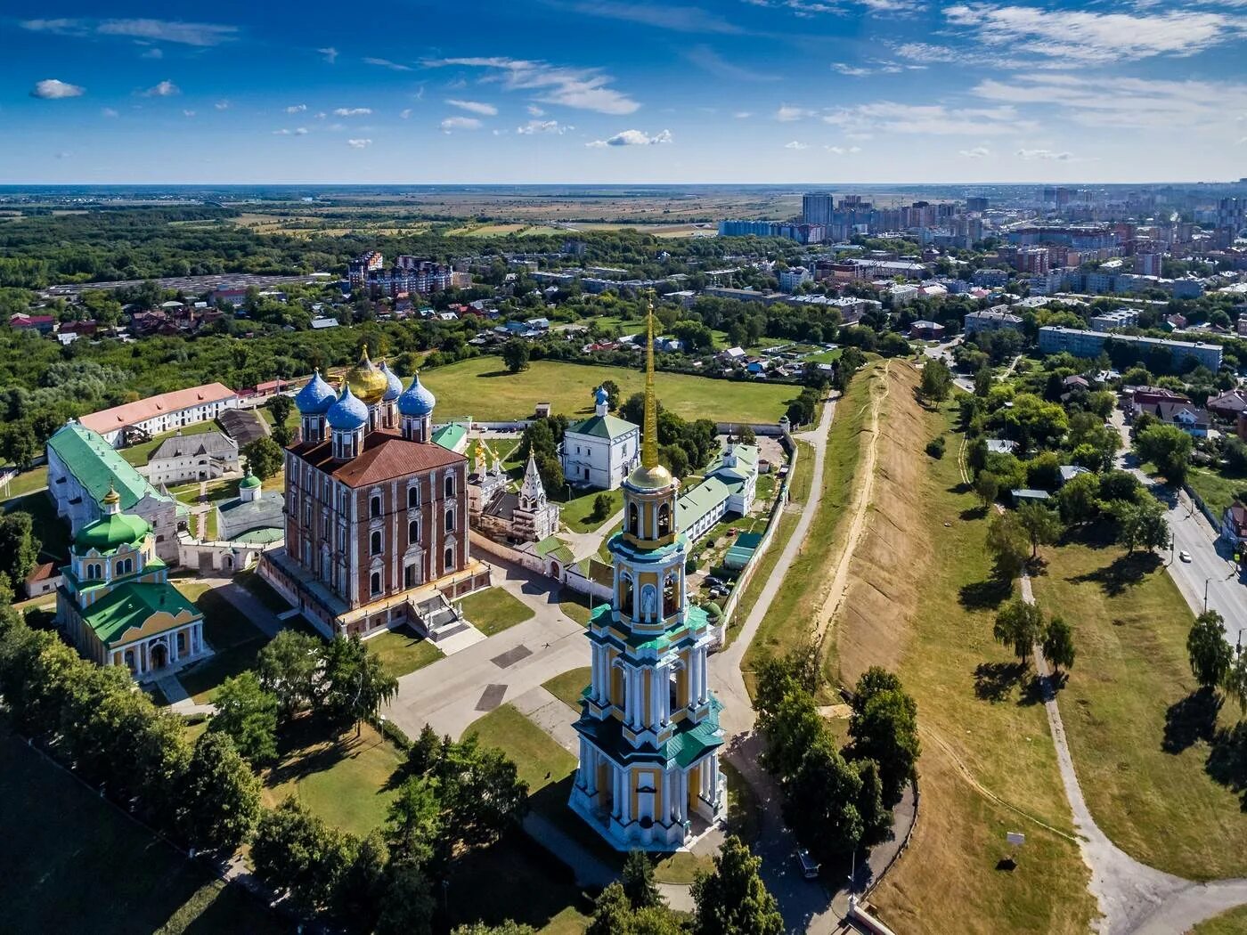
{"type": "Polygon", "coordinates": [[[314,814],[344,832],[367,835],[385,822],[398,790],[390,782],[404,757],[369,724],[324,736],[319,723],[279,734],[278,762],[263,774],[266,804],[294,795],[314,814]]]}

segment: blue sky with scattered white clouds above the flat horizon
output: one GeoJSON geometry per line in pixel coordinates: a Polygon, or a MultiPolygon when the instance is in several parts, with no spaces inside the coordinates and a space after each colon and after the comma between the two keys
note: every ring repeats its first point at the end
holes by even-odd
{"type": "Polygon", "coordinates": [[[0,183],[1247,176],[1247,0],[10,0],[0,42],[0,183]]]}

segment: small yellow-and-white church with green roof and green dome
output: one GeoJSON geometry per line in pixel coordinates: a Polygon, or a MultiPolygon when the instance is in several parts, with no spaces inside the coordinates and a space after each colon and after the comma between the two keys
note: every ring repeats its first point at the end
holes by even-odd
{"type": "Polygon", "coordinates": [[[160,678],[208,654],[203,615],[168,581],[156,535],[121,511],[110,490],[105,514],[74,536],[56,591],[56,625],[86,658],[160,678]]]}

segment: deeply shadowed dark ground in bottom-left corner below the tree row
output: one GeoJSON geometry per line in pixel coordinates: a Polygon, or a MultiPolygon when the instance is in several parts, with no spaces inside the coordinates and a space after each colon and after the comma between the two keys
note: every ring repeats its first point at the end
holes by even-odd
{"type": "Polygon", "coordinates": [[[12,933],[292,931],[7,732],[0,732],[0,929],[12,933]]]}

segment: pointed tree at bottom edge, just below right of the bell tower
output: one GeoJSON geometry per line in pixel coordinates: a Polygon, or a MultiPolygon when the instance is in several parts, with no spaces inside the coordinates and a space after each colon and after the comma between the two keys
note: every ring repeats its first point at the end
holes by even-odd
{"type": "Polygon", "coordinates": [[[762,859],[734,834],[723,840],[715,870],[692,885],[693,935],[781,935],[783,916],[758,876],[762,859]]]}

